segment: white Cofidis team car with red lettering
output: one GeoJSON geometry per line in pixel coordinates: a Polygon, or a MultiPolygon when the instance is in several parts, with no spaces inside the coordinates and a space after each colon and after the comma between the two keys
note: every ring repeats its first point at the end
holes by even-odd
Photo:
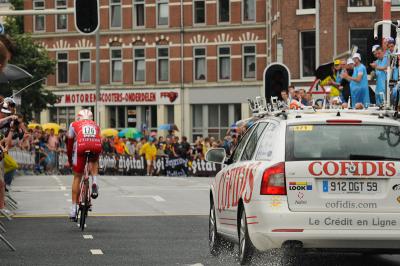
{"type": "MultiPolygon", "coordinates": [[[[397,114],[396,114],[397,115],[397,114]]],[[[400,122],[379,111],[287,112],[260,118],[210,188],[213,255],[254,249],[400,250],[400,122]],[[228,245],[226,246],[226,243],[228,245]]]]}

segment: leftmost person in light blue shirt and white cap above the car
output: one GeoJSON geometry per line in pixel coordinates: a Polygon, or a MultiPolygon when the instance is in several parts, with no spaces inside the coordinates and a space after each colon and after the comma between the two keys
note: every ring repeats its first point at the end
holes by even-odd
{"type": "Polygon", "coordinates": [[[367,69],[361,63],[359,53],[355,53],[352,59],[354,61],[353,75],[350,76],[347,72],[342,74],[342,78],[350,82],[351,107],[356,109],[368,108],[370,101],[367,69]]]}

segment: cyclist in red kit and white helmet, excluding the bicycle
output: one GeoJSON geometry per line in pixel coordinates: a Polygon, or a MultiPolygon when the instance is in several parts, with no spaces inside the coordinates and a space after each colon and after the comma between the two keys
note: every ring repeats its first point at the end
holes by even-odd
{"type": "Polygon", "coordinates": [[[92,198],[98,196],[96,176],[98,174],[99,155],[102,151],[100,128],[93,121],[93,114],[88,109],[79,112],[77,121],[72,122],[68,130],[67,154],[72,166],[74,180],[72,183],[72,208],[70,218],[75,219],[79,202],[80,183],[85,170],[86,153],[90,152],[89,171],[92,176],[92,198]]]}

